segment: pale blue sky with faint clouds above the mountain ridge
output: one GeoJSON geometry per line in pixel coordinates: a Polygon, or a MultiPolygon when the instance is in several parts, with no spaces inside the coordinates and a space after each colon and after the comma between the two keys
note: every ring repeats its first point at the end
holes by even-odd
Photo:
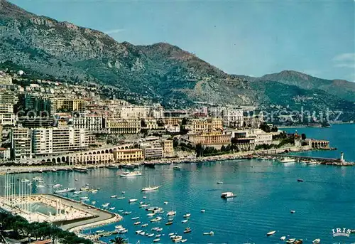
{"type": "Polygon", "coordinates": [[[10,0],[137,45],[170,43],[238,75],[297,70],[355,82],[354,0],[10,0]]]}

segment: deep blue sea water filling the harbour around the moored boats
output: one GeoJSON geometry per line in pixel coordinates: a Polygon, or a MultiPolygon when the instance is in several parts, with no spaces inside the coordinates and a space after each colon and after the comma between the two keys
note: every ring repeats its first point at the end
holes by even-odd
{"type": "MultiPolygon", "coordinates": [[[[308,138],[329,139],[336,151],[313,151],[302,153],[317,157],[339,157],[344,152],[345,159],[355,161],[355,124],[337,124],[331,128],[288,128],[288,132],[306,133],[308,138]]],[[[54,184],[63,187],[80,187],[88,184],[99,188],[97,193],[83,192],[101,207],[110,203],[115,213],[131,211],[119,223],[84,230],[114,230],[116,225],[128,229],[122,234],[129,243],[153,243],[155,237],[136,235],[136,230],[156,233],[153,227],[161,227],[158,243],[173,243],[169,233],[178,233],[186,243],[285,243],[281,236],[303,239],[312,243],[316,238],[321,243],[355,243],[355,234],[334,236],[337,228],[341,231],[355,229],[355,166],[325,166],[300,163],[281,164],[277,161],[230,160],[204,163],[180,164],[180,170],[173,165],[155,166],[155,169],[141,166],[142,176],[119,177],[122,169],[90,169],[87,174],[76,171],[58,171],[43,174],[18,174],[18,179],[43,177],[47,187],[36,188],[33,193],[53,193],[54,184]],[[303,179],[298,182],[297,179],[303,179]],[[224,184],[217,184],[222,181],[224,184]],[[160,186],[157,191],[141,192],[149,185],[160,186]],[[122,193],[124,191],[124,193],[122,193]],[[221,193],[231,191],[237,196],[222,199],[221,193]],[[111,198],[124,196],[124,199],[111,198]],[[143,198],[146,196],[146,198],[143,198]],[[136,198],[136,203],[129,199],[136,198]],[[162,221],[151,223],[139,202],[162,207],[162,221]],[[168,204],[164,204],[164,202],[168,204]],[[204,213],[201,210],[204,210],[204,213]],[[176,211],[173,224],[166,213],[176,211]],[[290,211],[295,211],[291,213],[290,211]],[[191,213],[187,223],[182,223],[183,215],[191,213]],[[131,218],[139,217],[138,220],[131,218]],[[136,221],[148,223],[142,228],[133,226],[136,221]],[[190,227],[191,233],[183,230],[190,227]],[[275,230],[275,234],[266,233],[275,230]],[[204,235],[213,231],[214,235],[204,235]]],[[[0,176],[4,184],[4,176],[0,176]]],[[[0,191],[4,191],[1,187],[0,191]]],[[[2,192],[1,192],[2,193],[2,192]]],[[[78,200],[78,197],[69,198],[78,200]]],[[[114,236],[102,238],[107,243],[114,236]]]]}

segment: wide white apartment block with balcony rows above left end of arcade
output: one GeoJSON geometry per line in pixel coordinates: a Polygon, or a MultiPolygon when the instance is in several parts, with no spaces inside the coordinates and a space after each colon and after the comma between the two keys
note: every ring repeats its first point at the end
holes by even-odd
{"type": "Polygon", "coordinates": [[[60,154],[89,147],[87,129],[35,128],[32,132],[33,154],[60,154]]]}

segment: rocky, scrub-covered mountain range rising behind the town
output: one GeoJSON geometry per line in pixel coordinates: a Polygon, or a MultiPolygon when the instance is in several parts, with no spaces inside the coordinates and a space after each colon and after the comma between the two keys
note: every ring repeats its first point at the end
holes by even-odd
{"type": "Polygon", "coordinates": [[[168,43],[119,43],[100,31],[37,16],[1,0],[0,61],[6,60],[72,82],[98,83],[109,95],[138,103],[186,107],[197,101],[354,112],[355,83],[292,70],[261,78],[229,75],[168,43]]]}

